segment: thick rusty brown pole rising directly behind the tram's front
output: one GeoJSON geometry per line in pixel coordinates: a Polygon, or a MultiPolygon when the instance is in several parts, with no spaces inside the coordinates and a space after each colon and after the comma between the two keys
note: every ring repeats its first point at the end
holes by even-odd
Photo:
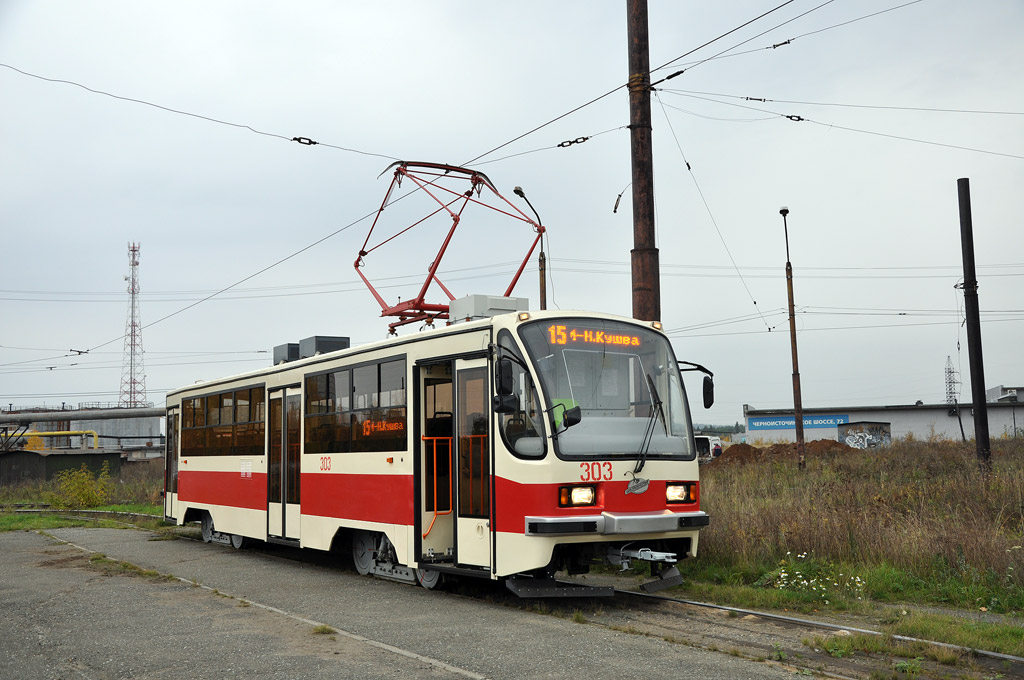
{"type": "Polygon", "coordinates": [[[662,321],[662,283],[654,242],[654,165],[650,141],[647,0],[627,0],[630,66],[630,153],[633,165],[633,317],[662,321]]]}

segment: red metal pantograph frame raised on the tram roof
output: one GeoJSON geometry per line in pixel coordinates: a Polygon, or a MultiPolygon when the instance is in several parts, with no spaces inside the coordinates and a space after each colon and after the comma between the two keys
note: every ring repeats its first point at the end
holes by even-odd
{"type": "MultiPolygon", "coordinates": [[[[544,236],[544,227],[509,203],[508,199],[503,197],[501,193],[498,192],[492,181],[482,172],[454,165],[444,165],[441,163],[411,161],[399,161],[389,166],[388,170],[391,168],[395,169],[394,176],[391,179],[391,185],[388,186],[387,194],[384,196],[384,201],[381,203],[381,207],[377,211],[374,223],[370,226],[370,232],[367,235],[367,239],[364,241],[362,248],[359,249],[358,257],[355,258],[355,263],[353,265],[356,273],[358,273],[359,278],[362,280],[362,283],[367,285],[367,288],[370,289],[370,293],[374,296],[374,299],[376,299],[377,303],[380,304],[381,316],[397,316],[398,321],[388,324],[388,330],[391,334],[395,333],[395,329],[397,327],[406,324],[413,324],[415,322],[432,324],[435,318],[449,317],[449,302],[454,300],[456,296],[453,295],[452,292],[445,288],[444,284],[441,283],[440,279],[438,279],[437,269],[440,266],[441,259],[444,257],[444,253],[447,250],[449,245],[452,243],[452,238],[455,236],[456,228],[462,221],[463,212],[470,205],[494,210],[514,220],[525,222],[534,228],[534,232],[537,235],[532,244],[530,244],[526,257],[523,258],[519,268],[516,269],[515,274],[512,277],[512,282],[502,294],[504,297],[509,297],[512,294],[512,290],[515,288],[516,283],[518,283],[523,269],[526,267],[526,263],[534,254],[537,244],[544,236]],[[390,205],[389,201],[392,199],[392,194],[396,188],[401,186],[402,180],[407,178],[415,184],[419,190],[423,192],[426,196],[433,200],[436,203],[436,207],[423,218],[413,222],[409,226],[390,233],[390,236],[386,236],[375,245],[371,245],[370,240],[374,237],[374,229],[378,227],[378,223],[381,221],[381,215],[383,215],[384,210],[390,205]],[[466,187],[467,182],[468,188],[466,187]],[[459,188],[458,190],[453,188],[453,185],[460,184],[462,185],[462,188],[459,188]],[[487,192],[486,199],[484,199],[484,190],[487,192]],[[492,197],[490,194],[494,196],[492,197]],[[437,251],[434,259],[427,267],[427,277],[423,282],[423,286],[420,287],[419,292],[412,299],[406,300],[404,302],[399,301],[395,304],[387,303],[380,293],[377,292],[377,289],[374,288],[373,284],[370,283],[370,280],[364,275],[361,267],[366,265],[365,258],[381,246],[384,246],[410,229],[420,226],[421,224],[427,222],[430,218],[438,215],[442,217],[446,215],[451,218],[452,225],[444,237],[440,250],[437,251]],[[440,288],[444,295],[447,296],[447,300],[444,302],[426,301],[427,291],[433,284],[437,284],[437,287],[440,288]]],[[[385,170],[385,172],[387,172],[387,170],[385,170]]],[[[395,199],[395,201],[397,201],[397,199],[395,199]]]]}

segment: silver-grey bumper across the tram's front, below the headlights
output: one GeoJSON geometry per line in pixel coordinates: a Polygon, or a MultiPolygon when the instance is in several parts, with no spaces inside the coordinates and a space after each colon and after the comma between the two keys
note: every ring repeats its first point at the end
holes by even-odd
{"type": "Polygon", "coordinates": [[[613,536],[699,529],[711,521],[707,512],[602,512],[572,517],[526,517],[526,536],[613,536]]]}

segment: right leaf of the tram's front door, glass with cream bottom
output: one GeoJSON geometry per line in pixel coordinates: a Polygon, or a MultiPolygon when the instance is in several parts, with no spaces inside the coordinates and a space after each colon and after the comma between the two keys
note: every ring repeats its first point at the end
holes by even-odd
{"type": "Polygon", "coordinates": [[[490,566],[490,399],[487,362],[456,362],[456,546],[459,564],[490,566]]]}

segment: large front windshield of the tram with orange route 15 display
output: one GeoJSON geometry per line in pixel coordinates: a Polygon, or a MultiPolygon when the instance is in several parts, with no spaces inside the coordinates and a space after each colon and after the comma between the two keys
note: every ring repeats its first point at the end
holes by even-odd
{"type": "Polygon", "coordinates": [[[596,318],[523,325],[555,447],[569,458],[693,458],[689,410],[672,346],[640,326],[596,318]],[[580,408],[581,421],[563,424],[580,408]]]}

